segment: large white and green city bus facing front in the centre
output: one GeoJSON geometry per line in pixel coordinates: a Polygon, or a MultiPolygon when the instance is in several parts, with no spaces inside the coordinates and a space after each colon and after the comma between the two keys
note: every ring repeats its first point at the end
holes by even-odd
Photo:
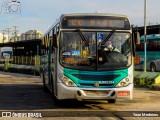
{"type": "Polygon", "coordinates": [[[132,99],[134,45],[127,16],[63,14],[42,38],[43,86],[56,101],[132,99]]]}

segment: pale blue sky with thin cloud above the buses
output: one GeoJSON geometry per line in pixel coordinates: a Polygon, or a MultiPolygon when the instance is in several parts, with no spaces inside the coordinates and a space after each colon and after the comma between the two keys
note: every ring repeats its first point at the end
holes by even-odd
{"type": "MultiPolygon", "coordinates": [[[[0,30],[18,26],[45,32],[64,13],[116,13],[129,16],[132,24],[144,25],[144,0],[19,0],[21,13],[5,14],[0,0],[0,30]]],[[[160,24],[160,0],[147,0],[147,24],[160,24]]]]}

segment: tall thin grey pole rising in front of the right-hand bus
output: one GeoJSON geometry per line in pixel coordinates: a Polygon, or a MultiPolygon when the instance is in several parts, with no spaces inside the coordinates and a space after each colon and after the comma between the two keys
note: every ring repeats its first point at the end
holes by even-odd
{"type": "Polygon", "coordinates": [[[146,27],[146,8],[147,8],[147,1],[144,0],[144,72],[146,72],[146,59],[147,59],[147,27],[146,27]]]}

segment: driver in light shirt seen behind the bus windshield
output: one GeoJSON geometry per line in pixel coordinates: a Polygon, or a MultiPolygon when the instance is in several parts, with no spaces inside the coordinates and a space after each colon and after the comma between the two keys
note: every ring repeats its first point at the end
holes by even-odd
{"type": "Polygon", "coordinates": [[[104,51],[105,52],[119,52],[120,53],[120,51],[116,47],[113,47],[111,41],[106,42],[106,47],[104,47],[104,51]]]}

